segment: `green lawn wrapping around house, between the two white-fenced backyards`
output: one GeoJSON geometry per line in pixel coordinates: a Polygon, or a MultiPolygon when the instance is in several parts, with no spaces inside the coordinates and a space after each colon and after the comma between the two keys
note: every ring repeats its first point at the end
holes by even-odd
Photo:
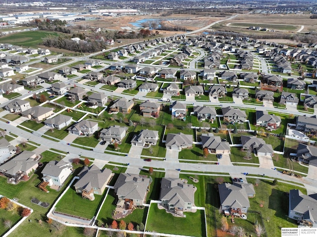
{"type": "MultiPolygon", "coordinates": [[[[115,209],[115,204],[115,194],[113,189],[111,189],[109,190],[109,193],[106,197],[106,201],[102,206],[97,219],[111,226],[111,223],[113,221],[111,213],[115,209]]],[[[125,218],[119,219],[118,221],[124,220],[126,223],[132,222],[133,225],[136,227],[141,223],[145,224],[146,213],[147,208],[137,208],[130,215],[128,215],[125,218]]]]}

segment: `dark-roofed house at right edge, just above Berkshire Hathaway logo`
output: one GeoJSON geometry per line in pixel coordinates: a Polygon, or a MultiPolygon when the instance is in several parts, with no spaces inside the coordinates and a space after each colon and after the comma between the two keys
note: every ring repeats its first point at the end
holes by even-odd
{"type": "Polygon", "coordinates": [[[288,217],[297,220],[304,228],[317,227],[316,196],[303,194],[300,190],[289,190],[288,217]]]}

